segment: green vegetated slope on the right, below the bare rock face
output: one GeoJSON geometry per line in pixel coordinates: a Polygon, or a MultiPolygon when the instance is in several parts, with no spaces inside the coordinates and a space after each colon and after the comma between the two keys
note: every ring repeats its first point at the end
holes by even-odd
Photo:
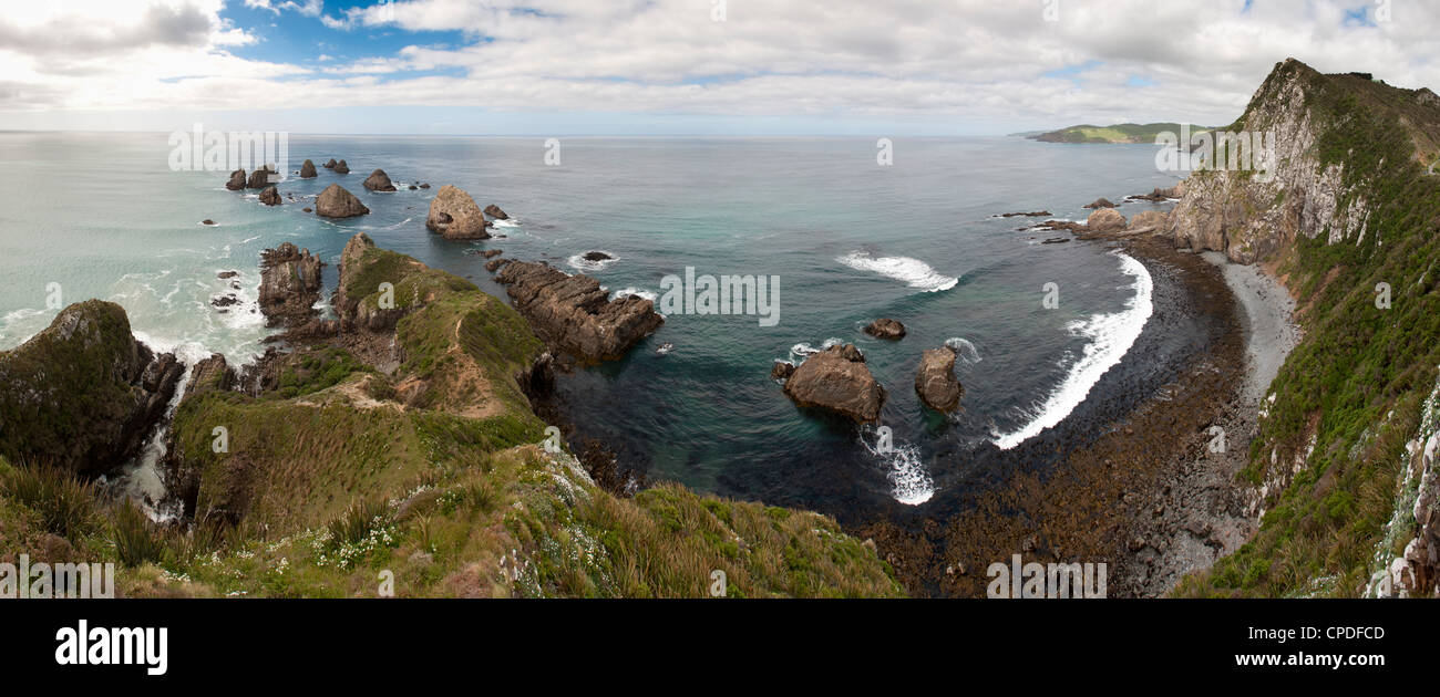
{"type": "MultiPolygon", "coordinates": [[[[1318,157],[1362,185],[1368,231],[1359,243],[1326,244],[1328,231],[1300,239],[1282,259],[1306,336],[1272,385],[1276,401],[1243,476],[1260,484],[1297,456],[1302,464],[1267,503],[1256,537],[1181,595],[1358,595],[1440,364],[1440,180],[1420,165],[1423,132],[1440,132],[1440,114],[1361,78],[1309,79],[1308,106],[1323,129],[1318,157]],[[1424,125],[1421,135],[1407,122],[1424,125]],[[1381,282],[1392,287],[1390,309],[1375,306],[1381,282]]],[[[1261,89],[1237,124],[1263,129],[1250,121],[1269,96],[1261,89]]]]}

